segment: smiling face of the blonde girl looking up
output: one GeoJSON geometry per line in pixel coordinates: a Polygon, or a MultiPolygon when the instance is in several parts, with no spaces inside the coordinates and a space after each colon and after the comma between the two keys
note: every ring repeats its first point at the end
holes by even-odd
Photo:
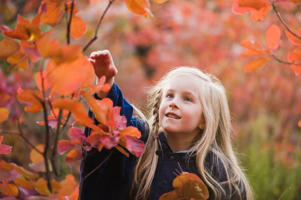
{"type": "Polygon", "coordinates": [[[163,93],[159,108],[159,122],[169,134],[185,133],[196,136],[202,128],[203,112],[192,74],[173,77],[163,93]]]}

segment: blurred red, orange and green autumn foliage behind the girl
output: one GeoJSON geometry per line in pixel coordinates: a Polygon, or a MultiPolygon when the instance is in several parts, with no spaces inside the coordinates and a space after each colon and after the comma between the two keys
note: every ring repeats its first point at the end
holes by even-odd
{"type": "MultiPolygon", "coordinates": [[[[0,24],[15,27],[18,13],[32,19],[40,3],[41,0],[1,0],[0,24]]],[[[82,4],[78,15],[85,19],[87,32],[79,40],[72,38],[71,44],[85,46],[90,41],[107,3],[108,0],[91,0],[89,5],[82,4]]],[[[272,10],[263,21],[254,22],[249,14],[235,14],[232,4],[232,0],[151,2],[155,17],[145,18],[130,12],[124,0],[115,0],[100,25],[98,39],[85,55],[109,49],[118,68],[116,83],[125,98],[144,111],[144,90],[170,67],[196,66],[217,75],[228,91],[235,129],[233,145],[258,199],[301,199],[301,80],[289,65],[274,60],[246,73],[244,65],[248,59],[240,57],[244,50],[240,41],[255,40],[265,45],[265,31],[271,24],[282,28],[279,58],[287,60],[287,52],[294,46],[272,10]]],[[[301,23],[299,4],[277,5],[283,19],[297,28],[301,23]]],[[[51,26],[43,28],[46,31],[51,26]]],[[[55,37],[65,42],[65,35],[64,21],[57,26],[55,37]]],[[[34,77],[38,65],[30,63],[26,71],[8,71],[10,64],[0,60],[0,94],[10,95],[0,103],[11,109],[10,120],[1,126],[18,131],[16,119],[20,117],[28,124],[24,131],[35,144],[44,137],[43,126],[36,123],[43,120],[42,113],[25,113],[24,105],[16,100],[16,90],[20,86],[37,88],[34,77]]],[[[6,135],[5,139],[13,151],[0,155],[0,159],[26,168],[31,147],[14,135],[6,135]]],[[[79,162],[63,164],[62,170],[78,178],[79,162]]]]}

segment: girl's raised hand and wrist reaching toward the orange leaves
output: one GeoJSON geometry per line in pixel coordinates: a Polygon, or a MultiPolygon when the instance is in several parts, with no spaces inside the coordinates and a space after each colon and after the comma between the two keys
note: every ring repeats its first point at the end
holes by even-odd
{"type": "MultiPolygon", "coordinates": [[[[105,76],[106,83],[110,86],[114,83],[114,76],[117,74],[118,70],[114,65],[113,58],[109,50],[98,50],[91,53],[88,61],[94,66],[95,74],[99,79],[101,76],[105,76]]],[[[107,97],[108,92],[99,91],[97,95],[100,98],[107,97]]]]}

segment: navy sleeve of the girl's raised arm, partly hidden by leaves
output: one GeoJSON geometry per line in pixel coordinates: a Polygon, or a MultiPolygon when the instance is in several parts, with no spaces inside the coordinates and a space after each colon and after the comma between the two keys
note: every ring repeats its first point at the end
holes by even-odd
{"type": "MultiPolygon", "coordinates": [[[[96,94],[94,94],[94,97],[100,99],[96,94]]],[[[115,83],[110,89],[108,97],[113,101],[113,106],[121,107],[120,115],[126,117],[126,125],[137,127],[142,134],[141,139],[145,142],[144,139],[147,138],[147,135],[145,135],[147,131],[144,128],[145,122],[133,116],[133,107],[123,97],[121,90],[115,83]]],[[[90,109],[88,115],[95,120],[96,124],[99,123],[90,109]]],[[[84,132],[86,136],[89,136],[90,130],[90,128],[85,127],[84,132]]],[[[133,154],[129,153],[129,157],[126,157],[115,148],[103,148],[100,152],[93,148],[88,152],[91,155],[86,157],[84,168],[81,168],[81,172],[83,170],[83,177],[89,174],[111,151],[113,151],[111,156],[92,175],[84,179],[81,194],[82,200],[125,199],[129,190],[132,169],[136,158],[133,154]]]]}

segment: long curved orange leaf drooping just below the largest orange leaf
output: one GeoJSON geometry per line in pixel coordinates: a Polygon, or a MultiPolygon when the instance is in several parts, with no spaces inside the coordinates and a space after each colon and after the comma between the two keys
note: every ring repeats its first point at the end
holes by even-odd
{"type": "Polygon", "coordinates": [[[74,116],[83,123],[85,123],[86,126],[96,130],[100,130],[100,128],[94,124],[94,121],[88,117],[87,111],[82,103],[74,101],[70,98],[61,98],[55,100],[52,103],[52,105],[53,107],[67,109],[71,111],[74,114],[74,116]]]}

